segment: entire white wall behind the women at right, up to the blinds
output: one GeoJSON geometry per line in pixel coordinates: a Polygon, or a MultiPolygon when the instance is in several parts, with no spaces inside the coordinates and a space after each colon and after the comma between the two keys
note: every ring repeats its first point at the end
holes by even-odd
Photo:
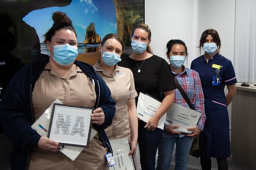
{"type": "Polygon", "coordinates": [[[220,53],[234,62],[235,0],[145,0],[145,23],[152,31],[154,54],[166,59],[166,43],[181,39],[188,47],[188,66],[199,56],[199,39],[208,28],[218,31],[220,53]]]}

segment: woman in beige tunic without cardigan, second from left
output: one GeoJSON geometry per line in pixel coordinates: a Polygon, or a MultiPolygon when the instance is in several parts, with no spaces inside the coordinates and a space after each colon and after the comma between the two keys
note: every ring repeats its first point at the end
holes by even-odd
{"type": "Polygon", "coordinates": [[[106,35],[100,44],[100,60],[94,68],[106,82],[111,97],[116,102],[116,113],[112,125],[105,129],[110,140],[128,138],[135,158],[138,139],[138,119],[135,98],[138,96],[134,86],[132,71],[118,66],[124,49],[122,39],[113,33],[106,35]]]}

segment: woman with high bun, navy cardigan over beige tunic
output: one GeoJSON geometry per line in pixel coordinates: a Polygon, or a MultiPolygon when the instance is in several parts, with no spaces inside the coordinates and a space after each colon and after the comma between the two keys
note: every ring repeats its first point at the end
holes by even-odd
{"type": "Polygon", "coordinates": [[[104,129],[112,123],[115,102],[94,68],[75,61],[77,37],[68,16],[55,12],[52,19],[54,24],[44,35],[50,57],[24,66],[0,102],[0,124],[14,144],[11,169],[108,170],[105,154],[106,148],[108,152],[111,148],[104,129]],[[98,133],[74,161],[58,151],[56,141],[31,128],[56,99],[63,104],[95,108],[91,119],[98,133]]]}

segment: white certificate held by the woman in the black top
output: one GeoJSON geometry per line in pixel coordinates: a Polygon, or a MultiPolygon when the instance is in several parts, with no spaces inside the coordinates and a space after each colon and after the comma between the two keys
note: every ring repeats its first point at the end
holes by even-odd
{"type": "MultiPolygon", "coordinates": [[[[147,123],[148,120],[155,115],[160,105],[161,102],[158,100],[140,92],[137,104],[138,118],[147,123]]],[[[164,122],[166,120],[165,118],[166,113],[164,113],[164,115],[158,121],[158,128],[164,129],[164,122]]]]}

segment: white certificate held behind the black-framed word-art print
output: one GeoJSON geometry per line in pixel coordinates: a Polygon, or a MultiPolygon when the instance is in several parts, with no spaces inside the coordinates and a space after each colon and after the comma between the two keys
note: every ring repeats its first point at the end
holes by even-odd
{"type": "MultiPolygon", "coordinates": [[[[50,119],[52,114],[52,106],[54,103],[62,104],[60,100],[56,99],[50,107],[48,107],[44,113],[36,120],[36,122],[31,126],[32,129],[35,129],[39,135],[48,136],[48,131],[50,127],[50,119]]],[[[98,132],[92,129],[90,134],[90,140],[97,134],[98,132]]],[[[59,151],[68,156],[71,160],[75,160],[76,157],[82,152],[84,148],[82,147],[72,147],[72,146],[65,146],[63,149],[59,151]]]]}

